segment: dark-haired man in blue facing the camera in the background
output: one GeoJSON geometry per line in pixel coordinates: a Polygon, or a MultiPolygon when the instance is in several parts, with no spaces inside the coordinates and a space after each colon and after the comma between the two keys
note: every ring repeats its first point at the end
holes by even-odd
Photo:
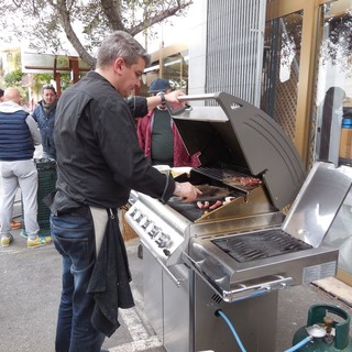
{"type": "Polygon", "coordinates": [[[37,127],[42,135],[43,157],[56,160],[56,151],[53,139],[53,130],[55,123],[57,96],[54,86],[43,86],[43,99],[32,112],[33,119],[37,122],[37,127]]]}

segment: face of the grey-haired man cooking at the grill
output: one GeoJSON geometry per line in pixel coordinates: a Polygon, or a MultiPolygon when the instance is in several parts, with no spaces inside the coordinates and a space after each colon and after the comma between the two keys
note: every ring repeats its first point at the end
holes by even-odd
{"type": "Polygon", "coordinates": [[[141,87],[141,78],[145,68],[145,62],[143,58],[139,58],[136,64],[127,66],[125,63],[121,65],[121,75],[119,76],[118,91],[123,97],[129,97],[131,91],[141,87]]]}

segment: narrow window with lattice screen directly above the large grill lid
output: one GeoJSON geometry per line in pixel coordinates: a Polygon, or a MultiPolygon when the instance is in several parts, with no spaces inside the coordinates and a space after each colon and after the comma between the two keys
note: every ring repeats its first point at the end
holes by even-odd
{"type": "Polygon", "coordinates": [[[261,109],[295,139],[302,11],[266,23],[261,109]]]}

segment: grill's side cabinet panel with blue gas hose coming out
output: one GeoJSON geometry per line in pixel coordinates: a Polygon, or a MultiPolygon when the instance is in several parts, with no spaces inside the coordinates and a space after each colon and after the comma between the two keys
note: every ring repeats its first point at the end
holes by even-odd
{"type": "Polygon", "coordinates": [[[275,351],[277,292],[227,304],[196,275],[195,348],[189,351],[240,352],[227,323],[215,312],[221,309],[234,326],[246,351],[275,351]]]}

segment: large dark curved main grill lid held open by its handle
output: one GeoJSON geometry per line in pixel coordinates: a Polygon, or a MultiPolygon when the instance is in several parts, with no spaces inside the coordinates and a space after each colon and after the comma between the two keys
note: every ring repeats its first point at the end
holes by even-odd
{"type": "Polygon", "coordinates": [[[237,167],[261,177],[277,209],[298,194],[306,172],[294,143],[264,111],[226,92],[184,96],[218,106],[170,111],[190,155],[200,152],[205,167],[237,167]]]}

